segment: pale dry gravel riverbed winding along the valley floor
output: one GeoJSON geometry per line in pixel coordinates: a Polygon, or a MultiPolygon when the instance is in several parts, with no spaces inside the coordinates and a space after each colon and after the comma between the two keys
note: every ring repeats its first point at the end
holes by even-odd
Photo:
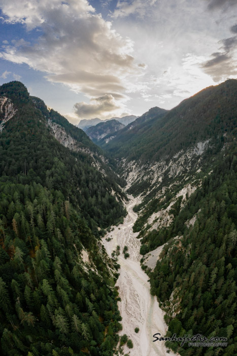
{"type": "Polygon", "coordinates": [[[129,196],[129,202],[126,204],[127,216],[123,224],[115,226],[114,230],[107,233],[103,239],[104,246],[109,256],[120,246],[120,255],[118,263],[120,276],[116,286],[119,287],[119,296],[121,302],[118,307],[122,316],[123,330],[120,335],[126,334],[132,340],[133,348],[124,346],[124,353],[130,356],[174,356],[174,352],[166,352],[163,341],[153,342],[152,337],[155,333],[164,336],[167,331],[167,325],[163,319],[163,311],[159,308],[156,297],[150,294],[150,284],[148,276],[141,269],[140,259],[140,241],[136,238],[138,233],[132,232],[132,226],[137,219],[137,214],[133,212],[134,205],[140,202],[140,199],[129,196]],[[111,238],[111,241],[106,239],[111,238]],[[124,258],[123,248],[128,247],[129,257],[124,258]],[[135,328],[140,331],[136,334],[135,328]]]}

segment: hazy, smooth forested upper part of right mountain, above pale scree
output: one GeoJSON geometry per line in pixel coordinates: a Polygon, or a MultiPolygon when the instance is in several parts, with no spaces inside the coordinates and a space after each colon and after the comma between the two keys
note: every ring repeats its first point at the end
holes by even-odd
{"type": "Polygon", "coordinates": [[[125,140],[121,135],[120,139],[109,142],[106,150],[127,161],[157,162],[171,158],[207,137],[216,139],[220,133],[233,128],[236,87],[235,79],[210,86],[184,100],[159,120],[156,115],[149,130],[142,132],[139,140],[134,135],[125,140]]]}

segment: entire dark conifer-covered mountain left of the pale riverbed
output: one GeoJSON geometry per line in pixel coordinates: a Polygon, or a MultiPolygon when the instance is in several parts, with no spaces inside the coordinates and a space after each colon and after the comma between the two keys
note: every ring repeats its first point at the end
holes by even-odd
{"type": "Polygon", "coordinates": [[[0,353],[112,355],[117,271],[99,239],[125,215],[122,181],[18,81],[0,87],[0,122],[0,353]]]}

